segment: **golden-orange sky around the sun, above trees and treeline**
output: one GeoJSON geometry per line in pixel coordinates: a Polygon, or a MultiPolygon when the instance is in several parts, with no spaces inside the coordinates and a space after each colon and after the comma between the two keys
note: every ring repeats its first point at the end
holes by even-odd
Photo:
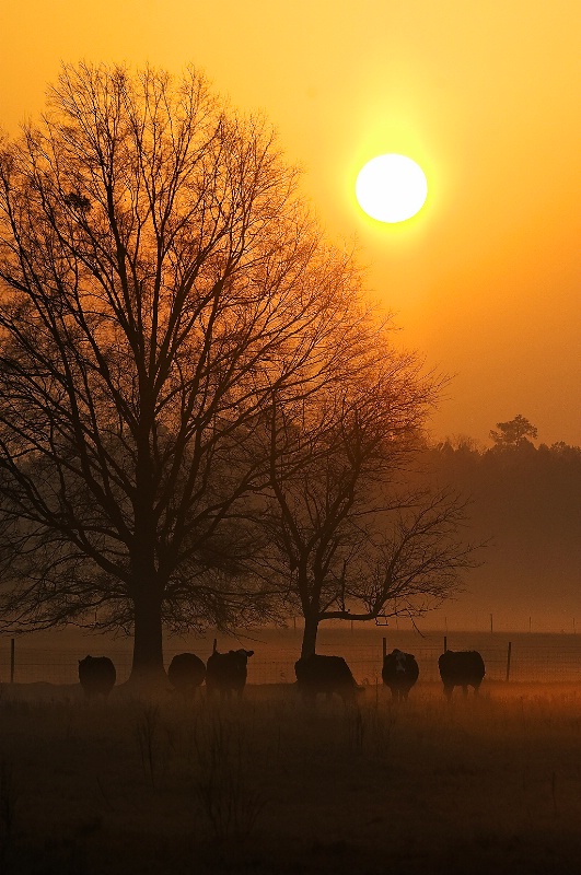
{"type": "Polygon", "coordinates": [[[522,413],[581,444],[579,0],[1,0],[0,33],[10,132],[61,61],[202,68],[278,128],[402,342],[455,375],[434,436],[486,440],[522,413]],[[428,177],[400,225],[355,199],[383,152],[428,177]]]}

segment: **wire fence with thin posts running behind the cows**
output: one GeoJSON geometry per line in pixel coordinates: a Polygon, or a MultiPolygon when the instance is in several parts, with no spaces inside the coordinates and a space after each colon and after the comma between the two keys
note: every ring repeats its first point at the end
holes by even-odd
{"type": "MultiPolygon", "coordinates": [[[[543,640],[533,640],[534,637],[526,635],[514,638],[515,641],[498,641],[493,635],[466,635],[466,640],[449,637],[448,646],[453,650],[478,650],[486,664],[488,680],[506,681],[509,676],[510,681],[515,682],[581,682],[581,641],[578,643],[577,637],[542,635],[543,640]]],[[[78,660],[85,655],[86,649],[82,652],[79,648],[46,649],[32,646],[28,643],[21,645],[18,639],[15,644],[13,641],[3,639],[0,642],[0,682],[7,684],[10,680],[18,684],[78,682],[78,660]]],[[[387,650],[398,646],[414,653],[420,668],[420,680],[440,679],[438,657],[444,648],[443,635],[428,642],[422,640],[418,642],[416,638],[411,645],[407,641],[397,641],[392,635],[386,646],[387,650]]],[[[207,655],[200,649],[199,642],[197,648],[185,644],[171,646],[165,651],[166,665],[176,653],[186,650],[198,652],[202,658],[207,655]]],[[[127,680],[131,669],[129,645],[101,648],[97,651],[92,642],[92,651],[98,654],[104,652],[113,660],[118,684],[127,680]]],[[[340,642],[323,641],[317,651],[323,654],[335,653],[345,656],[358,682],[381,684],[383,664],[381,635],[370,637],[369,642],[364,644],[351,642],[347,637],[340,642]]],[[[260,642],[255,645],[255,655],[248,661],[248,684],[293,684],[294,662],[298,655],[298,641],[293,641],[292,645],[288,641],[278,644],[276,640],[260,642]]]]}

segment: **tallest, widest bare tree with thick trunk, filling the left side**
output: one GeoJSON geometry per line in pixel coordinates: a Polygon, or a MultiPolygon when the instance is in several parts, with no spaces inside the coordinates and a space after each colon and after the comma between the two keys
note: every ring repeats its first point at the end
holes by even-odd
{"type": "Polygon", "coordinates": [[[65,67],[42,124],[3,143],[12,628],[125,629],[132,677],[161,676],[164,622],[267,609],[247,563],[243,505],[268,476],[253,435],[274,395],[340,375],[364,317],[295,185],[268,126],[195,70],[65,67]]]}

